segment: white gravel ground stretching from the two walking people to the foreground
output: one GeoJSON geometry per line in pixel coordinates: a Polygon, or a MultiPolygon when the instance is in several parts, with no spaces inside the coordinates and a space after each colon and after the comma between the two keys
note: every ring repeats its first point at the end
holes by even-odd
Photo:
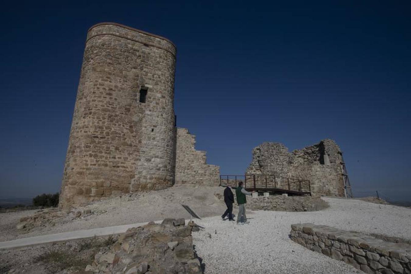
{"type": "Polygon", "coordinates": [[[221,217],[196,220],[205,227],[193,232],[205,273],[363,273],[291,241],[293,223],[411,239],[411,209],[359,200],[323,199],[330,208],[321,211],[248,211],[247,225],[222,221],[221,217]]]}

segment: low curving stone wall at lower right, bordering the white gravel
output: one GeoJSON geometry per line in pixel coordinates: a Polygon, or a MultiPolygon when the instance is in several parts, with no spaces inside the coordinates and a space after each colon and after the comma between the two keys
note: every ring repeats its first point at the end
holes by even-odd
{"type": "Polygon", "coordinates": [[[291,240],[366,273],[411,273],[411,245],[312,223],[291,225],[291,240]]]}

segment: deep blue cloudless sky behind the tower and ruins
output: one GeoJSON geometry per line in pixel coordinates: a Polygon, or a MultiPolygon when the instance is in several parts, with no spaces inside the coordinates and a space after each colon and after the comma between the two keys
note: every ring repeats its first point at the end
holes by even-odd
{"type": "Polygon", "coordinates": [[[113,21],[177,45],[178,126],[222,174],[331,138],[355,194],[411,200],[409,1],[59,2],[2,4],[0,197],[60,189],[86,32],[113,21]]]}

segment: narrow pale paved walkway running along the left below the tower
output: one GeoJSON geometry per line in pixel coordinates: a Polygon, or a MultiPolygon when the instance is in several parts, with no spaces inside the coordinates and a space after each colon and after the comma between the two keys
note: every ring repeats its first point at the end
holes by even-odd
{"type": "MultiPolygon", "coordinates": [[[[156,221],[159,223],[161,221],[156,221]]],[[[135,228],[147,223],[132,223],[129,225],[116,225],[108,226],[105,228],[92,228],[86,230],[76,230],[70,232],[63,232],[57,234],[42,235],[36,237],[16,239],[12,241],[2,241],[0,242],[0,249],[16,248],[23,246],[32,246],[36,244],[46,244],[56,241],[67,241],[72,239],[90,238],[94,236],[106,236],[125,232],[129,228],[135,228]]]]}

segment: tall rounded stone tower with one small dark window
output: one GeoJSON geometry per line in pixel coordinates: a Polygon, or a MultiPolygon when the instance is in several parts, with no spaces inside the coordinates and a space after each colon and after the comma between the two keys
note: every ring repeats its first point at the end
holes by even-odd
{"type": "Polygon", "coordinates": [[[117,23],[88,30],[60,207],[173,185],[175,53],[117,23]]]}

